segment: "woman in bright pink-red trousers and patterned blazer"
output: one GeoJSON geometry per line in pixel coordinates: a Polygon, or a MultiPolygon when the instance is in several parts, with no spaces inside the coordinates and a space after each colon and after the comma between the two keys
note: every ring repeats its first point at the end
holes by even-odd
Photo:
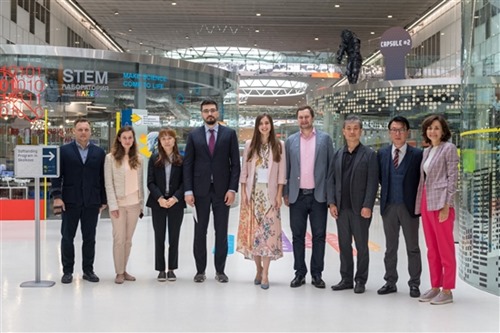
{"type": "Polygon", "coordinates": [[[422,136],[430,146],[424,150],[420,167],[415,213],[422,214],[431,289],[419,299],[431,304],[453,302],[457,263],[453,225],[454,195],[457,190],[457,147],[448,142],[451,132],[441,115],[431,115],[422,123],[422,136]]]}

